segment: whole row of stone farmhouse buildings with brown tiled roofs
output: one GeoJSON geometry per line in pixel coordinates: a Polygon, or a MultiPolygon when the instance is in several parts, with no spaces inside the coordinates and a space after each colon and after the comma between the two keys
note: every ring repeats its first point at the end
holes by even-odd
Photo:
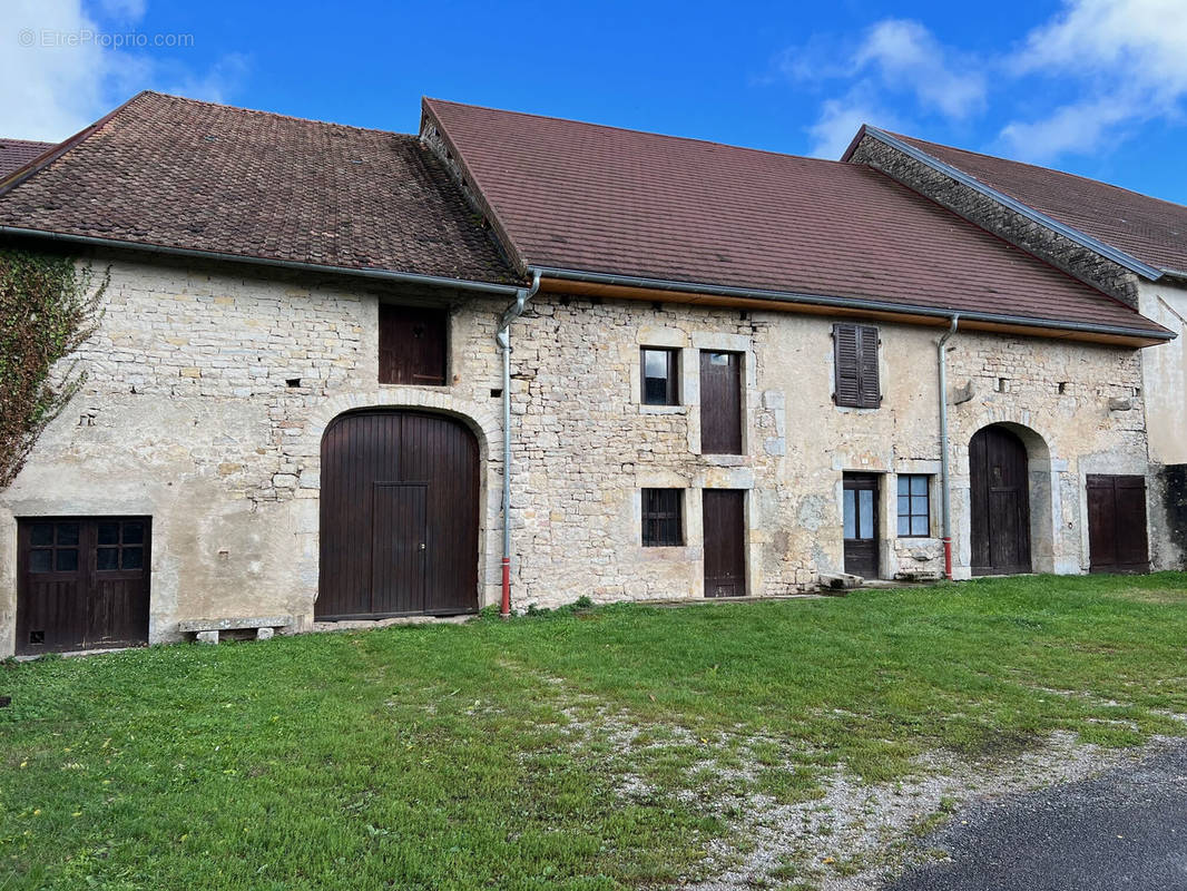
{"type": "Polygon", "coordinates": [[[4,247],[110,274],[0,492],[0,655],[1183,565],[1187,208],[437,100],[142,93],[0,165],[4,247]]]}

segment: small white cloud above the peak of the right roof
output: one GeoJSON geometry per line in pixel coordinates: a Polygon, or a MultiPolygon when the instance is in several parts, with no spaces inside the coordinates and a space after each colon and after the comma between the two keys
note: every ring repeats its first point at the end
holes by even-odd
{"type": "Polygon", "coordinates": [[[946,118],[965,118],[985,105],[984,75],[918,21],[880,21],[870,29],[855,63],[858,69],[876,68],[888,88],[914,93],[920,106],[946,118]]]}

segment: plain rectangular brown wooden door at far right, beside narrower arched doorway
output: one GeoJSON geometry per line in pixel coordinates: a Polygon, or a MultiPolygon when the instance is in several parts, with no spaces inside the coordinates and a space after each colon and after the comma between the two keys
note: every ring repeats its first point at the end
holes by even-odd
{"type": "Polygon", "coordinates": [[[1145,479],[1088,474],[1088,564],[1093,573],[1148,573],[1145,479]]]}

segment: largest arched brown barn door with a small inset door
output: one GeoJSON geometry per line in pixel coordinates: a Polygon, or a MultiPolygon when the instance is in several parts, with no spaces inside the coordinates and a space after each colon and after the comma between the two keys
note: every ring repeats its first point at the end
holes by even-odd
{"type": "Polygon", "coordinates": [[[478,443],[443,415],[343,415],[322,438],[323,620],[478,608],[478,443]]]}

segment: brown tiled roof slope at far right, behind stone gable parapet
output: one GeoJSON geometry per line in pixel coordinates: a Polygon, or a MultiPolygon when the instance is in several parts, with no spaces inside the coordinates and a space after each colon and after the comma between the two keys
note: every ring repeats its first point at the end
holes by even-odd
{"type": "Polygon", "coordinates": [[[1059,170],[891,134],[1159,270],[1187,272],[1187,207],[1059,170]]]}

